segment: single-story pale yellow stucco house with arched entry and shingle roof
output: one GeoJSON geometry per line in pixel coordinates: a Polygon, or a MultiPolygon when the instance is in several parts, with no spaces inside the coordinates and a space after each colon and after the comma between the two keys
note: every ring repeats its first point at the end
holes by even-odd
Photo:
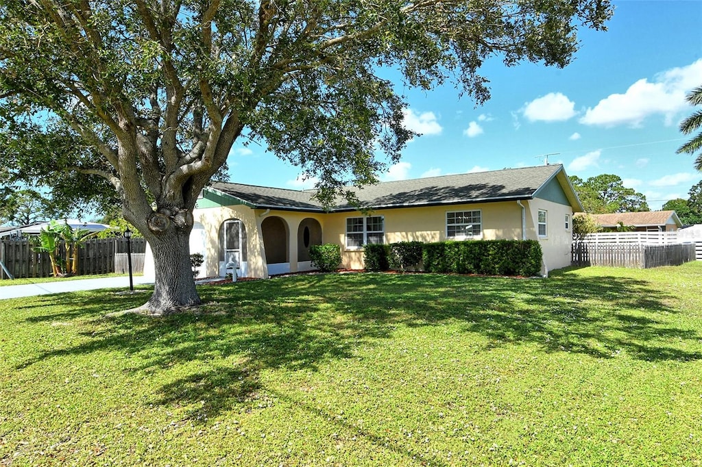
{"type": "MultiPolygon", "coordinates": [[[[571,221],[581,211],[562,165],[382,182],[357,190],[366,210],[324,209],[314,191],[213,183],[194,210],[191,252],[201,276],[267,278],[307,271],[310,245],[340,245],[345,269],[363,269],[367,243],[526,240],[541,243],[542,273],[569,266],[571,221]]],[[[148,269],[148,266],[147,266],[148,269]]]]}

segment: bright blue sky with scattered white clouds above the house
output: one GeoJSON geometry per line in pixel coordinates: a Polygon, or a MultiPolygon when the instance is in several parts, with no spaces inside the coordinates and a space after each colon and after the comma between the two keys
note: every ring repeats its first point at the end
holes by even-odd
{"type": "MultiPolygon", "coordinates": [[[[381,180],[562,163],[583,179],[619,175],[646,195],[651,209],[687,198],[702,174],[694,157],[675,154],[689,136],[678,125],[693,108],[684,97],[702,85],[702,1],[614,0],[607,32],[581,30],[581,49],[564,69],[499,58],[482,72],[491,100],[459,100],[452,86],[430,92],[400,88],[405,124],[422,133],[381,180]]],[[[230,180],[310,188],[300,170],[237,144],[230,180]]]]}

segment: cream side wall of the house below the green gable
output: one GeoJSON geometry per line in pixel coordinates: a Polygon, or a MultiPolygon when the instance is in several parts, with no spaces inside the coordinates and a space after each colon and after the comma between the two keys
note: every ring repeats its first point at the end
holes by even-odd
{"type": "Polygon", "coordinates": [[[570,205],[554,203],[535,198],[527,206],[527,239],[538,240],[543,251],[541,273],[548,276],[549,271],[571,264],[571,244],[573,243],[573,208],[570,205]],[[538,211],[546,211],[546,236],[538,236],[538,211]],[[568,229],[565,228],[566,215],[569,217],[568,229]]]}

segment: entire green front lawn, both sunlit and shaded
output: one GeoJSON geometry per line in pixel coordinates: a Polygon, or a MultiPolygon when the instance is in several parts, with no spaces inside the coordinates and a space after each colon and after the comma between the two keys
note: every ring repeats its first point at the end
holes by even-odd
{"type": "Polygon", "coordinates": [[[694,466],[702,263],[0,301],[0,465],[694,466]]]}

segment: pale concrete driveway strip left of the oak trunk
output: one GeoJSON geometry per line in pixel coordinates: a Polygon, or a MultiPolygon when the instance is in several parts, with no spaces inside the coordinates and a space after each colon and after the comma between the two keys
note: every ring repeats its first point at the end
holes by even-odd
{"type": "MultiPolygon", "coordinates": [[[[134,286],[152,284],[152,278],[135,276],[134,286]]],[[[57,280],[27,285],[3,285],[0,287],[0,300],[20,297],[34,297],[35,295],[60,294],[63,292],[77,292],[79,290],[122,288],[129,290],[129,278],[126,276],[106,277],[99,279],[57,280]]]]}

